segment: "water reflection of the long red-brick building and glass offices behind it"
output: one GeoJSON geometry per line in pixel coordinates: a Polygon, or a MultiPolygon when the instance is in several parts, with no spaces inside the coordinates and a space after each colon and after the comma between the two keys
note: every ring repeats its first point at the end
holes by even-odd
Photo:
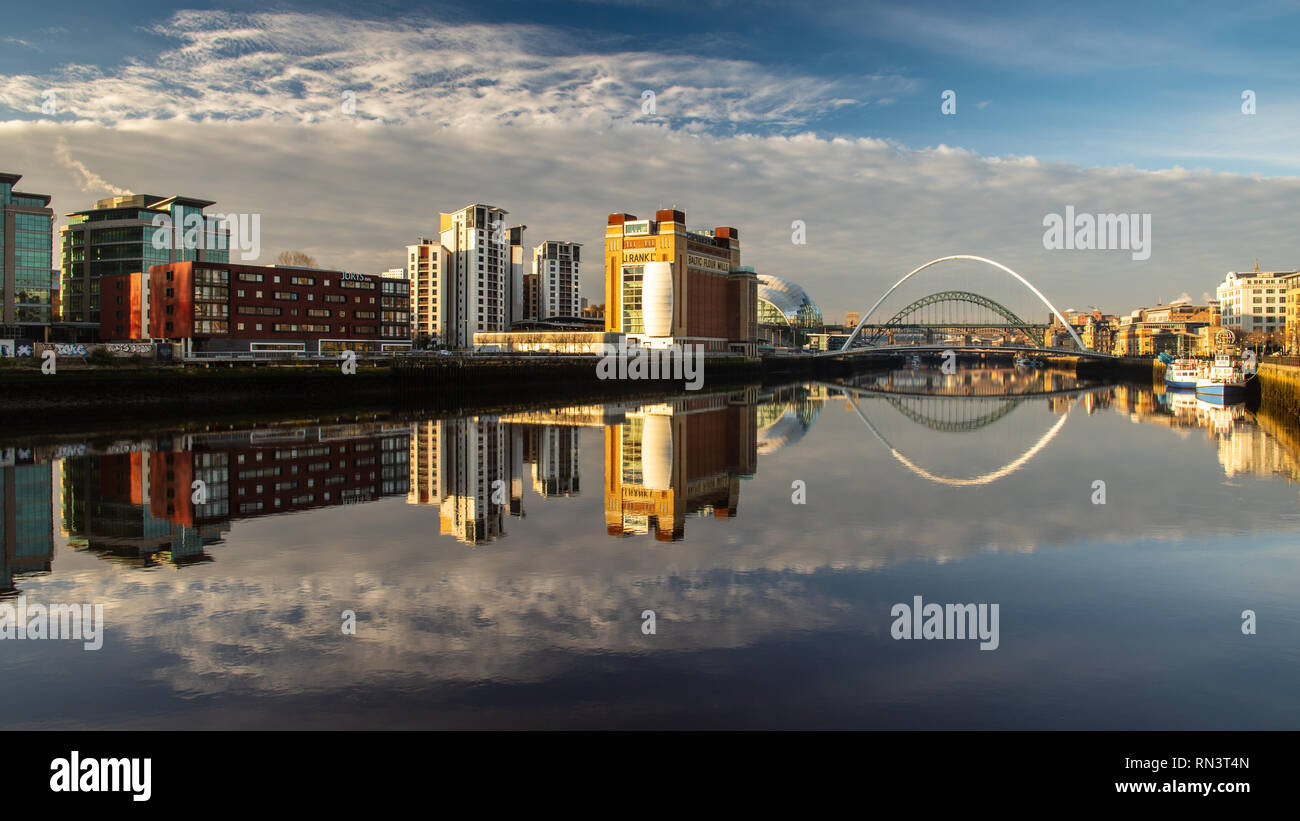
{"type": "Polygon", "coordinates": [[[62,460],[69,544],[152,566],[209,561],[235,520],[406,494],[407,425],[203,433],[62,460]]]}

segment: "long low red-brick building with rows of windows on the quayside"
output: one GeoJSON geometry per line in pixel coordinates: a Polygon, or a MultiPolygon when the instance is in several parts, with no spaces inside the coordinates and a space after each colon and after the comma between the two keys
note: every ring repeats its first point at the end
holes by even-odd
{"type": "Polygon", "coordinates": [[[150,336],[181,343],[186,352],[335,355],[411,347],[411,288],[404,279],[172,262],[150,268],[144,290],[150,336]]]}

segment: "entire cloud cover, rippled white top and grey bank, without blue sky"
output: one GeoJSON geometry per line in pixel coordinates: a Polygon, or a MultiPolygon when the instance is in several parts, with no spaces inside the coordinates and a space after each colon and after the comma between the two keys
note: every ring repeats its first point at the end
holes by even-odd
{"type": "MultiPolygon", "coordinates": [[[[117,186],[204,196],[221,212],[261,213],[268,259],[302,248],[367,272],[399,265],[439,210],[471,201],[510,210],[529,243],[594,252],[607,213],[676,204],[693,225],[740,227],[742,261],[800,282],[829,317],[949,253],[1010,265],[1057,305],[1108,312],[1213,288],[1256,256],[1300,266],[1294,177],[1080,168],[798,125],[910,83],[900,78],[849,88],[744,61],[581,53],[528,26],[185,12],[162,30],[181,45],[151,64],[58,77],[60,110],[78,122],[0,123],[5,170],[53,194],[60,212],[117,186]],[[358,92],[358,118],[341,110],[344,88],[358,92]],[[641,113],[645,88],[656,117],[641,113]],[[58,140],[64,165],[49,149],[58,140]],[[1066,205],[1150,213],[1150,260],[1045,251],[1043,217],[1066,205]],[[806,221],[806,246],[790,243],[793,220],[806,221]]],[[[30,110],[49,82],[0,79],[0,103],[30,110]]],[[[589,257],[593,300],[599,272],[589,257]]]]}

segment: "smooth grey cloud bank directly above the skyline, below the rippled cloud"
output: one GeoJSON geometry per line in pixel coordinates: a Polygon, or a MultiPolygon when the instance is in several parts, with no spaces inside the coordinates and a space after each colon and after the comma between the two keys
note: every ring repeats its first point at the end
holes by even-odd
{"type": "MultiPolygon", "coordinates": [[[[471,201],[510,210],[529,226],[529,243],[572,239],[593,249],[603,244],[606,214],[676,204],[692,225],[740,227],[744,262],[800,282],[832,317],[870,307],[904,273],[949,253],[1010,265],[1057,305],[1108,312],[1213,288],[1223,272],[1256,256],[1300,266],[1290,225],[1296,178],[1243,184],[1238,175],[1183,169],[1088,169],[807,134],[711,138],[634,123],[602,131],[269,121],[0,125],[12,166],[5,170],[26,174],[26,188],[53,194],[60,212],[112,192],[83,191],[84,177],[56,162],[49,147],[60,138],[79,162],[112,169],[133,191],[203,196],[221,212],[261,213],[268,259],[303,248],[350,270],[399,265],[406,244],[434,230],[439,210],[471,201]],[[1088,213],[1152,213],[1150,260],[1045,251],[1043,216],[1067,204],[1088,213]],[[793,220],[806,221],[806,246],[790,243],[793,220]]],[[[599,272],[593,256],[582,288],[595,300],[599,272]]]]}

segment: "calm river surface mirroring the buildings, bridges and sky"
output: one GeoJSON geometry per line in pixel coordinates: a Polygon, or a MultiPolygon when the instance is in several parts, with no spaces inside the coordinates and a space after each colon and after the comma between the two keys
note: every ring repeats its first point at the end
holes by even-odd
{"type": "Polygon", "coordinates": [[[0,609],[104,627],[0,726],[1297,729],[1296,442],[1010,369],[5,442],[0,609]]]}

